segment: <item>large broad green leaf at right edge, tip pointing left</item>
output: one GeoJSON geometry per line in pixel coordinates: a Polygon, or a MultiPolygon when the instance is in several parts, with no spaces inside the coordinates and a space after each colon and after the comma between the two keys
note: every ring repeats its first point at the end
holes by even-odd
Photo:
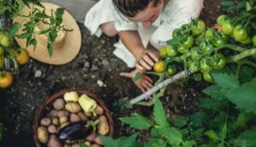
{"type": "Polygon", "coordinates": [[[256,81],[246,82],[238,88],[233,88],[225,93],[226,97],[238,108],[246,112],[254,112],[256,114],[256,81]]]}

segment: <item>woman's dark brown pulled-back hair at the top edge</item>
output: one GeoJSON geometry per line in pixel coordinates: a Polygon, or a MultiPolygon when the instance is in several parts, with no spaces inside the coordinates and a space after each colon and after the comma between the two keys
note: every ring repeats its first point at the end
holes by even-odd
{"type": "Polygon", "coordinates": [[[160,3],[161,0],[113,0],[115,8],[120,13],[128,17],[134,17],[144,8],[148,7],[150,2],[153,2],[154,7],[160,3]]]}

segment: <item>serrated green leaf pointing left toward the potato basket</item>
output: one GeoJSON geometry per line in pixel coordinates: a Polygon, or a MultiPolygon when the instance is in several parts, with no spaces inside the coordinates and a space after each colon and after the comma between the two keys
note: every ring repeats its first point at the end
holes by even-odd
{"type": "Polygon", "coordinates": [[[137,129],[145,129],[152,126],[148,118],[137,113],[132,114],[131,117],[121,117],[119,120],[137,129]]]}

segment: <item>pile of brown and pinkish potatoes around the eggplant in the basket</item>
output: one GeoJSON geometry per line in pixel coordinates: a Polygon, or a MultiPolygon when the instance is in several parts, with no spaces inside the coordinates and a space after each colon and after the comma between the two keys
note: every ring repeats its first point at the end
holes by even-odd
{"type": "MultiPolygon", "coordinates": [[[[70,92],[68,92],[70,93],[70,92]]],[[[79,96],[79,93],[75,93],[79,96]]],[[[65,93],[64,93],[65,95],[65,93]]],[[[71,122],[80,121],[96,121],[96,132],[91,133],[84,140],[80,140],[90,147],[101,147],[102,140],[100,135],[108,135],[109,124],[108,119],[104,116],[104,110],[100,105],[96,105],[94,115],[91,112],[86,112],[81,108],[78,99],[55,99],[53,105],[50,105],[48,113],[41,117],[38,127],[38,140],[42,146],[47,147],[79,147],[79,143],[68,144],[58,139],[57,133],[62,127],[66,127],[71,122]],[[44,144],[44,145],[43,145],[44,144]]],[[[70,97],[69,97],[70,98],[70,97]]]]}

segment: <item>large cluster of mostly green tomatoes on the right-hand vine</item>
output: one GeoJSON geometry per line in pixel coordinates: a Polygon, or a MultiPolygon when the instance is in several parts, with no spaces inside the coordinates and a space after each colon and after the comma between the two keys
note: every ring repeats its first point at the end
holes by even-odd
{"type": "Polygon", "coordinates": [[[232,25],[226,15],[219,16],[218,27],[212,28],[206,28],[202,20],[192,20],[172,31],[172,39],[160,48],[161,59],[154,64],[154,71],[166,72],[168,76],[184,69],[193,73],[201,71],[205,81],[213,82],[210,72],[224,68],[227,63],[218,48],[227,44],[230,38],[256,46],[256,36],[248,34],[247,28],[232,25]]]}

